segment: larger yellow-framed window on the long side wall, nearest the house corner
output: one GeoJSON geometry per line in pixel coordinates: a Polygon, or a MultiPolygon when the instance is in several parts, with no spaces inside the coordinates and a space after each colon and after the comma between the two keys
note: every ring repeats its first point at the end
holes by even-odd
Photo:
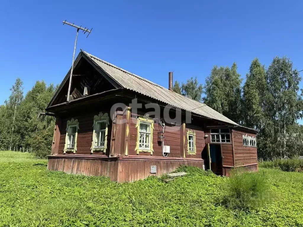
{"type": "Polygon", "coordinates": [[[152,144],[152,133],[154,129],[154,120],[146,119],[144,117],[137,118],[137,143],[135,151],[139,152],[154,152],[152,144]]]}

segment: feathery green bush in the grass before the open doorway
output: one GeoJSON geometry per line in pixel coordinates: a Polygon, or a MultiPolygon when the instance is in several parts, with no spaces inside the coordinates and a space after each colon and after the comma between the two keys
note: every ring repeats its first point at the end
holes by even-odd
{"type": "Polygon", "coordinates": [[[231,209],[250,211],[263,207],[272,199],[268,179],[260,173],[233,170],[225,188],[222,204],[231,209]]]}

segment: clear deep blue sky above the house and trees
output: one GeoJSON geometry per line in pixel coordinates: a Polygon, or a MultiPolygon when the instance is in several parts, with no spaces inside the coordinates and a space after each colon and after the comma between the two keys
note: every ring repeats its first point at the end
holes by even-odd
{"type": "MultiPolygon", "coordinates": [[[[269,65],[288,56],[303,69],[302,1],[2,1],[0,3],[0,104],[17,77],[25,93],[37,80],[62,81],[79,49],[168,87],[198,77],[213,65],[245,77],[253,58],[269,65]]],[[[302,87],[302,84],[301,84],[302,87]]]]}

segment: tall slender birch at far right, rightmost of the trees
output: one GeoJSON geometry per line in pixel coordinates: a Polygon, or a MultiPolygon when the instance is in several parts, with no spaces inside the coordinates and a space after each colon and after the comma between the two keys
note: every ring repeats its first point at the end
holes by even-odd
{"type": "Polygon", "coordinates": [[[291,128],[301,117],[302,99],[298,95],[301,77],[289,58],[275,57],[266,72],[266,80],[273,97],[268,101],[271,107],[268,115],[274,123],[275,156],[284,158],[294,152],[287,150],[287,143],[294,133],[291,128]]]}

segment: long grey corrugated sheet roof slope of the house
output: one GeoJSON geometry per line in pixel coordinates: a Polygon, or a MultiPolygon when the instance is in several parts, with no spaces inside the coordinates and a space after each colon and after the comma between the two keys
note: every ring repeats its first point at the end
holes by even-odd
{"type": "Polygon", "coordinates": [[[203,117],[212,118],[215,120],[223,121],[232,125],[238,125],[234,121],[228,119],[221,113],[208,107],[206,104],[192,100],[183,95],[170,91],[165,87],[148,81],[138,75],[130,73],[122,68],[119,68],[111,63],[101,60],[92,54],[82,51],[92,61],[94,61],[102,70],[110,75],[115,81],[121,84],[122,87],[154,98],[166,104],[191,111],[192,113],[201,115],[203,117]]]}

